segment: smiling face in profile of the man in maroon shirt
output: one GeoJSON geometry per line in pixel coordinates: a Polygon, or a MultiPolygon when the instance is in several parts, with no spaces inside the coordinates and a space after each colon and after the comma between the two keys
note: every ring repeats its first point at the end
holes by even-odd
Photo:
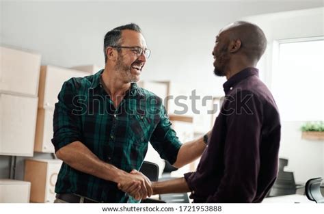
{"type": "Polygon", "coordinates": [[[230,63],[230,51],[228,45],[230,40],[226,31],[221,31],[216,36],[215,46],[213,49],[214,56],[214,73],[219,77],[226,76],[226,70],[230,63]]]}

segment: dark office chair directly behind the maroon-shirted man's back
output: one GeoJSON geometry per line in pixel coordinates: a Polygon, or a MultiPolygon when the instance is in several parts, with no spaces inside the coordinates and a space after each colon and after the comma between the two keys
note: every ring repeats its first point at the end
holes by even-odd
{"type": "Polygon", "coordinates": [[[296,185],[293,172],[284,171],[286,165],[288,165],[288,159],[279,159],[278,177],[267,197],[293,195],[297,189],[304,187],[296,185]]]}

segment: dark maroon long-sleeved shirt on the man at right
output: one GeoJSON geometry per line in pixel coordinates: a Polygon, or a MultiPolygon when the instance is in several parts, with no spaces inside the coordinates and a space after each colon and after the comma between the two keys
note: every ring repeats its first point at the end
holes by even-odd
{"type": "Polygon", "coordinates": [[[278,172],[280,117],[258,69],[224,83],[226,98],[196,172],[185,174],[193,202],[261,202],[278,172]]]}

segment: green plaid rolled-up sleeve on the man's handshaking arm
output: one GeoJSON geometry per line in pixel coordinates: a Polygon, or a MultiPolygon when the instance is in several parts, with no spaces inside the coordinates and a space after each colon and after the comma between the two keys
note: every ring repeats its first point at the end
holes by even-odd
{"type": "Polygon", "coordinates": [[[81,141],[80,116],[73,111],[77,108],[73,102],[75,96],[73,79],[70,79],[63,84],[55,103],[52,139],[55,152],[72,142],[81,141]]]}

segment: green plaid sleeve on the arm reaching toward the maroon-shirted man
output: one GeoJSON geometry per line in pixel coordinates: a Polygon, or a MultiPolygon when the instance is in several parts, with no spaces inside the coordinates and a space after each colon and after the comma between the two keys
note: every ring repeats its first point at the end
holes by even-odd
{"type": "Polygon", "coordinates": [[[178,151],[182,144],[176,136],[176,131],[172,129],[171,125],[165,107],[161,105],[160,121],[152,133],[150,144],[152,144],[153,148],[159,152],[162,159],[173,164],[176,162],[176,157],[178,156],[178,151]]]}

